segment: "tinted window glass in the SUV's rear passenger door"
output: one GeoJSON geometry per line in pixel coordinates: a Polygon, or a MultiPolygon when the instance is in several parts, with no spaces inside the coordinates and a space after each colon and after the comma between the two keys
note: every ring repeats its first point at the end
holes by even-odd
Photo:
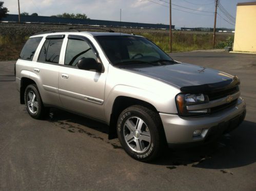
{"type": "Polygon", "coordinates": [[[38,61],[58,63],[60,60],[63,39],[46,39],[38,61]]]}

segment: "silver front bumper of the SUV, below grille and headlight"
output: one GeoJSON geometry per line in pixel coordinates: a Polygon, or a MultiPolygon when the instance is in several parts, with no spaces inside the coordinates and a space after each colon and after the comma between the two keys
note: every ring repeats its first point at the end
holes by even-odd
{"type": "Polygon", "coordinates": [[[166,140],[173,144],[207,142],[220,137],[237,128],[244,120],[246,104],[239,97],[237,105],[218,113],[201,117],[180,117],[178,115],[160,113],[166,140]],[[193,136],[195,130],[202,130],[199,136],[193,136]]]}

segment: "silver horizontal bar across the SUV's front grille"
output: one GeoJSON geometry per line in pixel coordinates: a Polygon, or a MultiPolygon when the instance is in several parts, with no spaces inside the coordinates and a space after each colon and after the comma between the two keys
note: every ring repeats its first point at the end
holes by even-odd
{"type": "Polygon", "coordinates": [[[188,111],[193,111],[193,110],[204,110],[204,109],[209,109],[209,108],[214,108],[217,107],[219,105],[223,105],[228,103],[227,99],[232,96],[232,98],[229,100],[229,102],[238,99],[240,96],[240,92],[234,93],[232,95],[228,95],[226,97],[220,98],[220,99],[216,99],[213,101],[210,101],[209,103],[202,103],[202,104],[198,104],[198,105],[187,105],[187,110],[188,111]]]}

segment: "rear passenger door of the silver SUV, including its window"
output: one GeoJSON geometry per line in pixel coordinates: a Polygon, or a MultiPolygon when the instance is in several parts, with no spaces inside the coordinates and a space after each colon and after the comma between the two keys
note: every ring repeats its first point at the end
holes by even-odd
{"type": "Polygon", "coordinates": [[[48,35],[42,45],[34,72],[40,76],[40,94],[44,103],[62,106],[58,96],[58,71],[65,35],[48,35]]]}

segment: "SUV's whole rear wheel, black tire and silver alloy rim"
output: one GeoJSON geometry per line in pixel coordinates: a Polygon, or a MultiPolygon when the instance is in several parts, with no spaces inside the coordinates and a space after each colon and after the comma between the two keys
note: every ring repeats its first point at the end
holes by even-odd
{"type": "Polygon", "coordinates": [[[25,106],[31,117],[43,119],[46,116],[47,108],[44,107],[36,84],[30,84],[25,89],[25,106]]]}

